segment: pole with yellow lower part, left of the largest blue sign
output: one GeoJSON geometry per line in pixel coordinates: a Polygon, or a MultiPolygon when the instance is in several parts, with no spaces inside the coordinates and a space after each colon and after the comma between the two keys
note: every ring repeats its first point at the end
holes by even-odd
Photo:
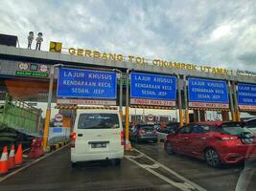
{"type": "Polygon", "coordinates": [[[50,68],[50,82],[49,82],[49,93],[48,93],[48,101],[47,101],[47,109],[45,116],[45,124],[43,130],[43,150],[47,150],[48,138],[49,138],[49,123],[51,119],[51,103],[53,96],[53,87],[54,87],[54,77],[55,77],[55,68],[62,66],[62,64],[52,65],[50,68]]]}

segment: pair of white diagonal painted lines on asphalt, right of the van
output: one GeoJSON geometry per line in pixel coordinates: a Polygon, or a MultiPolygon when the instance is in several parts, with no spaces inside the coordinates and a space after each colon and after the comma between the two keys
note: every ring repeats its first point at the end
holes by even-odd
{"type": "MultiPolygon", "coordinates": [[[[201,187],[201,186],[199,186],[198,184],[196,184],[196,183],[194,183],[193,181],[191,181],[191,180],[188,180],[188,179],[186,179],[185,177],[183,177],[183,176],[181,176],[181,175],[179,175],[178,173],[176,173],[174,170],[171,170],[170,168],[168,168],[167,166],[165,166],[165,165],[163,165],[162,163],[160,163],[160,162],[158,162],[158,161],[156,161],[156,160],[154,160],[154,159],[151,159],[149,156],[147,156],[147,155],[145,155],[144,153],[142,153],[141,151],[139,151],[138,149],[135,149],[135,148],[132,148],[132,150],[135,150],[136,152],[138,152],[139,154],[140,154],[140,156],[144,156],[144,157],[146,157],[147,159],[150,159],[152,162],[154,162],[154,165],[158,165],[158,166],[160,166],[160,167],[162,167],[163,169],[165,169],[166,171],[168,171],[168,172],[170,172],[172,175],[174,175],[176,178],[178,178],[179,180],[183,180],[185,183],[182,183],[183,185],[186,185],[185,187],[185,189],[186,190],[191,190],[191,189],[187,189],[188,187],[189,188],[196,188],[198,191],[206,191],[206,189],[205,188],[203,188],[203,187],[201,187]]],[[[151,167],[149,168],[149,165],[143,165],[143,164],[140,164],[139,162],[137,162],[137,161],[135,161],[134,159],[132,159],[132,158],[130,158],[129,156],[126,156],[126,159],[129,159],[130,161],[132,161],[132,162],[134,162],[134,163],[136,163],[137,165],[139,165],[140,167],[142,167],[142,168],[144,168],[144,169],[146,169],[146,170],[148,170],[148,171],[153,171],[152,169],[151,169],[151,167]],[[149,170],[150,169],[150,170],[149,170]]],[[[152,173],[152,172],[151,172],[152,173]]],[[[168,178],[165,178],[164,176],[158,176],[157,174],[159,174],[159,173],[157,173],[157,172],[153,172],[152,174],[154,174],[155,176],[157,176],[158,178],[160,178],[160,179],[162,179],[162,180],[166,180],[166,179],[168,179],[168,178]]],[[[173,182],[175,182],[175,181],[173,181],[173,180],[171,180],[171,181],[169,181],[169,180],[166,180],[167,182],[169,182],[169,183],[171,183],[171,184],[173,184],[173,182]]],[[[178,188],[179,189],[183,189],[184,188],[184,186],[180,186],[180,183],[177,183],[177,182],[175,182],[174,184],[173,184],[175,187],[176,186],[179,186],[178,188]]]]}

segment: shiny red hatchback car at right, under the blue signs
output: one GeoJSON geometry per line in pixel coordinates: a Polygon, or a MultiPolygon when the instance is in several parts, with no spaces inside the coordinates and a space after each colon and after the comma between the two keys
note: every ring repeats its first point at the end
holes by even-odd
{"type": "Polygon", "coordinates": [[[198,122],[179,128],[165,141],[168,154],[181,153],[205,159],[208,165],[256,159],[256,138],[238,122],[198,122]]]}

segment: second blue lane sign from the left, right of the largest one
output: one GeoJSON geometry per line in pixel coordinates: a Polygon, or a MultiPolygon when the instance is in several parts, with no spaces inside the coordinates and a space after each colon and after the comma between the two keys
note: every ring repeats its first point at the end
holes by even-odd
{"type": "Polygon", "coordinates": [[[176,77],[159,74],[130,74],[130,97],[175,100],[176,77]]]}

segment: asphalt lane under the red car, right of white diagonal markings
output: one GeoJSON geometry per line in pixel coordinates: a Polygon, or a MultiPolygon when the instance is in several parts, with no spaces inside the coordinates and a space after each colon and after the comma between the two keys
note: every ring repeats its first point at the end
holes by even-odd
{"type": "Polygon", "coordinates": [[[140,143],[135,148],[209,191],[255,191],[256,161],[211,168],[198,159],[163,152],[163,143],[140,143]]]}

